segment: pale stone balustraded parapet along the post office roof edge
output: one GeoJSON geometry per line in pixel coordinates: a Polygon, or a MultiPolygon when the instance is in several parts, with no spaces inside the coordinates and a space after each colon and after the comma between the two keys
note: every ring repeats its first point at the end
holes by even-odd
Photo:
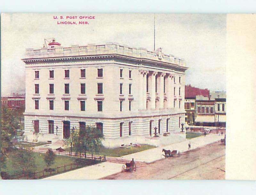
{"type": "Polygon", "coordinates": [[[159,54],[154,51],[148,51],[146,48],[132,48],[127,45],[119,45],[118,43],[106,43],[101,45],[88,44],[85,46],[72,45],[71,47],[55,47],[41,49],[26,49],[26,58],[52,58],[67,56],[86,56],[86,55],[104,55],[119,54],[134,58],[146,58],[162,62],[176,64],[178,66],[186,66],[184,59],[174,57],[173,55],[159,54]]]}

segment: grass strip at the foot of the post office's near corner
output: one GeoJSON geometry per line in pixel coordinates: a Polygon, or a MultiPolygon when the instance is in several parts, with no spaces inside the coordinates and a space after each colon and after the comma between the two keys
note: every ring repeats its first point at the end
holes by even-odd
{"type": "MultiPolygon", "coordinates": [[[[154,145],[148,145],[148,144],[142,144],[141,147],[126,147],[126,148],[104,148],[102,147],[99,152],[91,152],[88,151],[88,154],[96,154],[96,155],[106,155],[106,156],[111,156],[111,157],[120,157],[120,156],[125,156],[128,154],[136,153],[136,152],[141,152],[144,150],[148,150],[151,148],[155,148],[156,146],[154,145]]],[[[65,148],[66,151],[70,151],[70,148],[65,148]]],[[[72,148],[72,153],[75,151],[75,148],[72,148]]]]}

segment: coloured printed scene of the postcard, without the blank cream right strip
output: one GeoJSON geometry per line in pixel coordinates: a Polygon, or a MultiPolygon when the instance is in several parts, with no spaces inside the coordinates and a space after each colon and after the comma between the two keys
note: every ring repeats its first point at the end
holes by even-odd
{"type": "Polygon", "coordinates": [[[225,179],[226,46],[227,14],[2,14],[1,178],[225,179]]]}

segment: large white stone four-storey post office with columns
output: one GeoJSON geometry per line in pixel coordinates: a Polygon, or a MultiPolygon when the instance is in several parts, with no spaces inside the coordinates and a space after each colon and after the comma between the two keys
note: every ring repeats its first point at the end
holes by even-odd
{"type": "Polygon", "coordinates": [[[27,49],[25,134],[67,138],[96,125],[107,147],[149,143],[185,122],[185,61],[116,43],[27,49]]]}

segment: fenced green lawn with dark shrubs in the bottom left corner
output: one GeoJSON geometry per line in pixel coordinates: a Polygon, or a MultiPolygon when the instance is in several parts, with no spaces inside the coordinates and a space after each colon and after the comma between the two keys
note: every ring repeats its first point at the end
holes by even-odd
{"type": "MultiPolygon", "coordinates": [[[[19,168],[15,167],[15,165],[12,163],[17,152],[19,152],[19,150],[13,150],[12,152],[9,153],[8,159],[6,160],[6,168],[5,169],[2,168],[2,170],[1,170],[1,171],[7,172],[11,176],[11,178],[16,177],[17,175],[20,174],[19,168]]],[[[45,154],[43,154],[43,153],[34,152],[34,159],[35,159],[35,164],[36,164],[35,172],[40,172],[40,171],[43,171],[45,168],[47,168],[46,163],[44,162],[44,155],[45,154]]],[[[51,166],[51,168],[57,168],[57,167],[61,167],[64,165],[76,163],[75,160],[76,160],[76,158],[72,158],[72,157],[68,157],[68,156],[59,156],[56,154],[55,162],[51,166]]],[[[98,161],[96,161],[95,163],[98,163],[98,161]]],[[[79,167],[84,167],[84,166],[87,166],[87,165],[82,165],[82,164],[79,165],[79,167]]],[[[69,169],[69,168],[70,168],[70,166],[67,166],[67,169],[69,169]]],[[[72,168],[74,168],[74,166],[72,168]]],[[[64,167],[59,169],[59,172],[61,172],[61,171],[64,171],[64,167]]],[[[57,170],[56,170],[55,174],[57,174],[57,170]]],[[[47,175],[47,173],[45,173],[45,175],[47,175]]],[[[48,175],[49,175],[49,173],[48,173],[48,175]]]]}

